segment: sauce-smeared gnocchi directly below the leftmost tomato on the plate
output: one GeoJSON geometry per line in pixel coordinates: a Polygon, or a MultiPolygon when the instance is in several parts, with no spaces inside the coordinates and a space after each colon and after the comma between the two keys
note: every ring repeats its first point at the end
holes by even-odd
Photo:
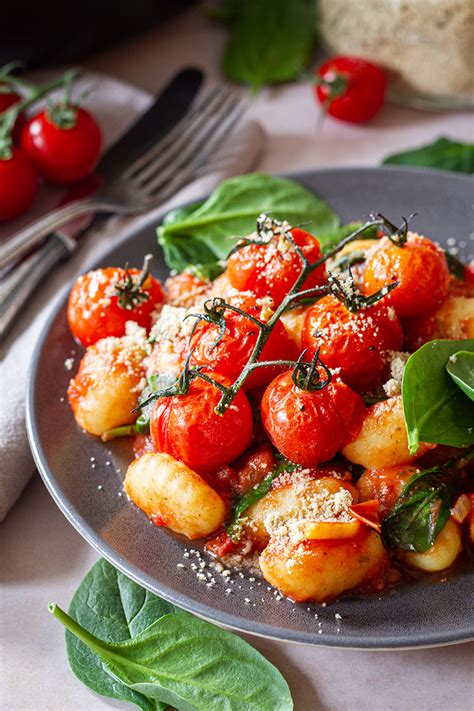
{"type": "Polygon", "coordinates": [[[67,394],[77,424],[89,434],[102,435],[137,419],[133,409],[144,384],[144,336],[139,329],[87,348],[67,394]]]}

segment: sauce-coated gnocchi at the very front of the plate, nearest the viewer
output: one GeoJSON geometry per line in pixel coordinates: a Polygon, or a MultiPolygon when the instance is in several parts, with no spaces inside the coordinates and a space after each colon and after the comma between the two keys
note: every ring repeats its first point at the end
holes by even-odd
{"type": "Polygon", "coordinates": [[[388,561],[379,534],[367,526],[350,539],[292,543],[272,538],[259,559],[265,580],[297,602],[326,602],[375,581],[388,561]]]}

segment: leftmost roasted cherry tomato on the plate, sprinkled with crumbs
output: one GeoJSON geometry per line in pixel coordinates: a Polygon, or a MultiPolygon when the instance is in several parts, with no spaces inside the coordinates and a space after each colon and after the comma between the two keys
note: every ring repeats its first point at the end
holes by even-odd
{"type": "MultiPolygon", "coordinates": [[[[138,269],[129,269],[132,278],[138,278],[138,269]]],[[[160,282],[148,276],[142,291],[148,299],[132,309],[119,305],[115,284],[126,277],[120,267],[96,269],[79,277],[69,295],[67,318],[71,332],[84,347],[107,336],[125,335],[127,321],[135,321],[149,330],[155,307],[163,302],[160,282]]]]}

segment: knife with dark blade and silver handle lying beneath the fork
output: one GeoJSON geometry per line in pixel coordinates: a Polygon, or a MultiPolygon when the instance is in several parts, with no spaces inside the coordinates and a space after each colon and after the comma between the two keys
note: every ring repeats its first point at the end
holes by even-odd
{"type": "MultiPolygon", "coordinates": [[[[111,181],[163,138],[184,116],[203,81],[199,69],[184,69],[160,92],[152,106],[107,151],[97,167],[103,181],[111,181]]],[[[77,249],[76,238],[96,219],[86,215],[47,237],[44,244],[2,279],[0,339],[2,339],[32,290],[57,264],[77,249]]]]}

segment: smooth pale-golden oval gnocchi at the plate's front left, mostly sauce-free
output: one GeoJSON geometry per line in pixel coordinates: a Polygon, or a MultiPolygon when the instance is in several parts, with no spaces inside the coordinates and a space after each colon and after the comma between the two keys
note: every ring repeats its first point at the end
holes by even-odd
{"type": "Polygon", "coordinates": [[[143,454],[124,482],[132,501],[155,523],[187,538],[204,538],[221,526],[227,507],[199,474],[169,454],[143,454]]]}

